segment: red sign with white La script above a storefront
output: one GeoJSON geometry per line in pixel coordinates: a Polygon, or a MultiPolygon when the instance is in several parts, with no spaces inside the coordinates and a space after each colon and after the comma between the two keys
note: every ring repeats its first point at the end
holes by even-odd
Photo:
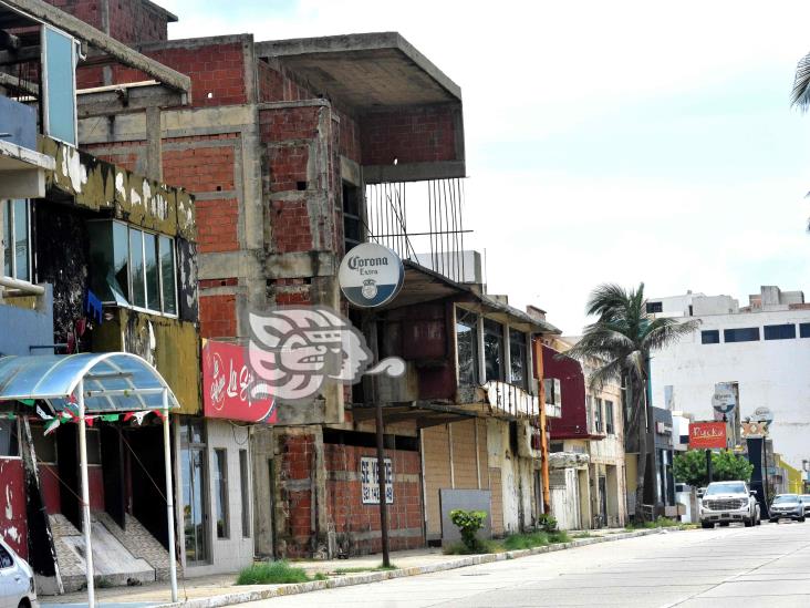
{"type": "Polygon", "coordinates": [[[227,342],[202,342],[202,414],[245,422],[277,422],[276,400],[250,399],[253,374],[246,348],[227,342]]]}

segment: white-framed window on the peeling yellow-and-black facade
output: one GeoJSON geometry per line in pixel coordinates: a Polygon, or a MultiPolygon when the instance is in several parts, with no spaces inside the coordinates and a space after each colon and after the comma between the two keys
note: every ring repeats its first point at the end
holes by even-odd
{"type": "Polygon", "coordinates": [[[91,290],[105,303],[177,315],[174,239],[121,221],[91,221],[91,290]]]}

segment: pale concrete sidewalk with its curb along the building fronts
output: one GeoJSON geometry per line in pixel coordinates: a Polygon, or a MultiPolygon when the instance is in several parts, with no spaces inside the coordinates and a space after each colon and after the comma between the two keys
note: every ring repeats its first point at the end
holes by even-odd
{"type": "MultiPolygon", "coordinates": [[[[96,589],[96,602],[107,608],[168,608],[183,606],[184,608],[217,608],[256,601],[278,596],[302,594],[332,587],[349,585],[362,585],[376,583],[390,578],[403,576],[416,576],[429,574],[464,566],[500,561],[503,559],[516,559],[529,555],[563,550],[572,547],[635,538],[650,534],[661,534],[661,528],[643,529],[636,532],[624,532],[620,529],[588,530],[589,537],[575,538],[570,543],[536,547],[516,552],[482,555],[444,555],[439,548],[414,549],[407,552],[395,552],[391,554],[391,563],[396,570],[365,571],[356,574],[335,574],[339,569],[375,568],[381,565],[380,554],[352,557],[350,559],[332,560],[301,560],[292,561],[294,566],[302,567],[308,574],[324,574],[330,578],[326,580],[313,580],[311,583],[297,583],[288,585],[235,585],[237,574],[225,574],[205,576],[198,578],[186,578],[178,580],[179,602],[172,604],[170,590],[167,583],[143,585],[137,587],[112,587],[96,589]]],[[[575,537],[581,534],[571,530],[569,534],[575,537]]],[[[40,604],[48,608],[79,608],[86,606],[86,592],[68,594],[64,596],[41,597],[40,604]]]]}

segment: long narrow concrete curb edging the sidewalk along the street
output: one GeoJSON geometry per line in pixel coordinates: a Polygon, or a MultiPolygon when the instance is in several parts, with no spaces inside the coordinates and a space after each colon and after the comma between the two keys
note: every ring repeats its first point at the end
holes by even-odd
{"type": "Polygon", "coordinates": [[[189,599],[188,601],[157,604],[152,608],[219,608],[220,606],[232,606],[235,604],[243,604],[246,601],[260,601],[262,599],[307,594],[310,591],[320,591],[322,589],[334,589],[338,587],[350,587],[353,585],[380,583],[382,580],[390,580],[392,578],[418,576],[423,574],[440,573],[444,570],[454,570],[456,568],[464,568],[466,566],[478,566],[480,564],[491,564],[495,561],[505,561],[507,559],[518,559],[520,557],[529,557],[532,555],[540,555],[544,553],[560,552],[574,547],[584,547],[586,545],[595,545],[598,543],[613,543],[615,540],[625,540],[627,538],[638,538],[641,536],[650,536],[652,534],[662,534],[663,532],[664,528],[652,528],[613,534],[610,536],[579,538],[569,543],[560,543],[559,545],[548,545],[544,547],[534,547],[532,549],[518,549],[513,552],[470,555],[467,557],[461,557],[459,559],[454,559],[451,561],[432,564],[429,566],[412,566],[411,568],[399,568],[397,570],[385,570],[341,576],[339,578],[330,578],[328,580],[312,580],[310,583],[274,585],[267,589],[255,589],[251,591],[241,592],[236,591],[221,596],[189,599]]]}

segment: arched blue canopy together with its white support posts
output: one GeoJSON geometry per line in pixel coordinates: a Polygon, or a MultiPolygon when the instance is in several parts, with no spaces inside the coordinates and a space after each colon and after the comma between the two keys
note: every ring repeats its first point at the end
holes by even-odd
{"type": "Polygon", "coordinates": [[[166,473],[172,601],[177,601],[175,558],[175,505],[172,483],[169,411],[179,406],[160,373],[141,357],[127,352],[43,354],[0,358],[0,401],[46,401],[59,414],[75,401],[79,424],[79,455],[82,481],[82,519],[85,545],[87,604],[95,608],[93,548],[91,543],[90,488],[87,481],[89,413],[163,412],[163,443],[166,473]],[[159,398],[159,401],[158,401],[159,398]]]}

